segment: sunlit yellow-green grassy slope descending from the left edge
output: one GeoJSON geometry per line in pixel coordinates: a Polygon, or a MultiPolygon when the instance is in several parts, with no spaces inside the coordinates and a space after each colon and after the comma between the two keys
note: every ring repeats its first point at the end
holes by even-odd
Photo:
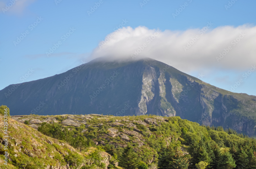
{"type": "MultiPolygon", "coordinates": [[[[0,129],[4,128],[3,116],[0,115],[0,129]]],[[[17,122],[11,118],[8,119],[8,135],[9,145],[8,166],[3,165],[4,168],[18,168],[30,165],[31,168],[45,168],[45,166],[65,166],[67,163],[64,156],[76,154],[79,158],[88,156],[89,152],[78,152],[76,149],[67,143],[45,136],[37,130],[17,122]],[[50,143],[50,144],[49,144],[50,143]],[[15,157],[17,156],[17,157],[15,157]]],[[[3,132],[0,132],[0,140],[3,140],[3,132]]],[[[3,154],[3,145],[0,145],[0,154],[3,154]]],[[[0,164],[3,164],[4,156],[0,155],[0,164]]]]}

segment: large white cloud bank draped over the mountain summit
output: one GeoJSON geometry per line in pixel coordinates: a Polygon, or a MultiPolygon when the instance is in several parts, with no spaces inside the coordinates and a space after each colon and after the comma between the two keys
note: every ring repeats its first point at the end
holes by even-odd
{"type": "Polygon", "coordinates": [[[104,45],[101,42],[102,46],[97,47],[92,52],[91,57],[131,58],[131,54],[146,44],[147,47],[141,51],[138,57],[149,57],[170,63],[173,67],[184,72],[202,69],[214,71],[216,68],[240,71],[256,64],[256,26],[221,26],[213,30],[206,29],[206,27],[204,29],[206,32],[203,34],[202,32],[199,33],[200,29],[160,31],[160,34],[149,43],[148,37],[154,35],[156,30],[150,30],[144,26],[135,29],[124,27],[107,35],[105,40],[110,40],[103,43],[104,45]],[[245,34],[244,37],[241,34],[245,34]],[[196,35],[199,39],[185,51],[184,46],[196,35]],[[234,46],[233,40],[237,38],[239,40],[239,36],[240,41],[234,46]],[[232,49],[222,59],[220,58],[221,60],[217,61],[216,57],[220,56],[219,53],[224,52],[224,49],[229,46],[232,49]]]}

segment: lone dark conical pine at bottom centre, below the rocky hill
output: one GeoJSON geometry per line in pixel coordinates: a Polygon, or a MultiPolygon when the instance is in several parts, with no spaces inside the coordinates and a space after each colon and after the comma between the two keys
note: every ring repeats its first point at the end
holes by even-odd
{"type": "Polygon", "coordinates": [[[132,146],[128,145],[119,159],[119,166],[125,169],[134,169],[138,167],[138,156],[134,153],[132,146]]]}

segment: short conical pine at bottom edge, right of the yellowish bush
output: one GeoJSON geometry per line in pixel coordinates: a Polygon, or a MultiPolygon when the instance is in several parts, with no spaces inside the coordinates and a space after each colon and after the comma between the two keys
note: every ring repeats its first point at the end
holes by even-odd
{"type": "Polygon", "coordinates": [[[232,168],[235,168],[236,167],[236,164],[235,164],[235,161],[232,157],[232,155],[228,152],[228,151],[225,151],[222,155],[221,155],[221,158],[220,158],[220,161],[219,161],[219,164],[218,164],[218,168],[219,169],[232,169],[232,168]]]}

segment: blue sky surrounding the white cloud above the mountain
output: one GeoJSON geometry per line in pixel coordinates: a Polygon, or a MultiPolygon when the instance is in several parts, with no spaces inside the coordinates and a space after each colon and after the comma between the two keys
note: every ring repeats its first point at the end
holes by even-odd
{"type": "MultiPolygon", "coordinates": [[[[231,33],[233,30],[249,31],[247,38],[242,39],[241,43],[237,45],[240,53],[232,51],[234,54],[237,53],[239,55],[232,59],[232,53],[229,53],[230,56],[223,58],[223,61],[221,61],[221,66],[218,66],[217,62],[212,66],[200,66],[209,64],[210,61],[204,58],[200,58],[200,62],[194,60],[199,66],[188,66],[189,63],[194,64],[189,59],[193,60],[195,53],[186,55],[187,58],[184,59],[184,62],[188,63],[184,64],[184,66],[182,66],[182,61],[175,61],[172,64],[174,58],[159,60],[187,74],[199,77],[211,85],[229,91],[231,91],[231,86],[235,85],[239,79],[243,79],[243,82],[234,92],[256,95],[256,90],[254,89],[256,71],[249,76],[244,76],[244,73],[250,71],[251,66],[256,64],[253,57],[251,57],[255,54],[255,50],[248,47],[248,44],[255,42],[249,37],[254,37],[255,35],[256,1],[233,0],[232,2],[233,4],[231,1],[225,0],[18,0],[14,5],[6,8],[6,4],[8,5],[11,1],[0,0],[0,72],[2,77],[0,90],[10,84],[60,74],[78,66],[81,61],[88,62],[92,60],[91,55],[93,51],[97,50],[98,44],[108,34],[114,32],[114,28],[125,20],[127,22],[125,24],[123,22],[124,27],[131,27],[134,32],[137,27],[145,26],[148,31],[161,30],[164,33],[172,31],[184,36],[187,35],[186,33],[189,30],[192,30],[192,33],[193,31],[197,32],[198,29],[205,27],[208,22],[212,22],[213,25],[207,30],[208,32],[205,36],[205,39],[209,36],[209,41],[216,37],[211,35],[217,32],[220,27],[223,30],[224,28],[227,30],[227,26],[231,26],[231,31],[228,31],[231,33]],[[95,6],[95,3],[96,5],[98,4],[98,7],[89,16],[88,11],[95,6]],[[3,10],[3,8],[8,10],[3,10]],[[176,10],[180,10],[180,12],[176,10]],[[173,13],[178,15],[173,17],[173,13]],[[247,25],[247,28],[237,28],[242,25],[247,25]],[[63,35],[67,33],[70,33],[70,36],[65,38],[63,35]],[[25,37],[19,43],[14,43],[14,41],[17,42],[17,37],[20,36],[25,37]],[[65,41],[63,41],[64,39],[65,41]],[[56,50],[47,57],[46,52],[49,52],[50,48],[54,47],[54,44],[58,44],[58,41],[61,44],[57,45],[56,50]],[[243,55],[244,47],[248,47],[246,48],[248,53],[243,55]],[[239,57],[242,59],[245,55],[251,60],[244,58],[243,66],[239,66],[240,63],[234,60],[238,60],[237,58],[239,57]],[[208,63],[206,64],[206,62],[208,63]]],[[[221,35],[221,33],[219,34],[221,35]]],[[[232,37],[238,35],[239,32],[233,33],[232,37]]],[[[193,37],[188,35],[189,39],[190,36],[193,37]]],[[[217,42],[225,41],[228,38],[220,36],[217,42]]],[[[226,44],[223,45],[223,49],[228,48],[229,45],[228,43],[226,44]]],[[[180,47],[183,48],[183,45],[180,47]]],[[[194,49],[198,48],[198,51],[200,50],[199,43],[193,47],[194,49]]],[[[223,49],[221,47],[220,49],[219,52],[222,52],[223,49]]],[[[209,57],[207,53],[211,55],[212,51],[209,49],[205,52],[206,54],[203,53],[202,55],[207,58],[209,57]]],[[[216,52],[216,54],[219,52],[216,52]]],[[[130,54],[127,53],[128,56],[130,54]]],[[[171,55],[175,58],[179,57],[179,53],[171,55]]]]}

